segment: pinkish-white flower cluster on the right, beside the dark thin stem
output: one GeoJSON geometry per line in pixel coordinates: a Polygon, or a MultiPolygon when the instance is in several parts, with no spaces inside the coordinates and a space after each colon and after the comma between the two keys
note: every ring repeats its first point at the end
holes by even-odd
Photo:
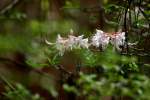
{"type": "Polygon", "coordinates": [[[109,34],[96,30],[96,34],[92,37],[92,45],[96,47],[101,46],[102,49],[105,49],[109,43],[114,45],[117,50],[120,50],[119,46],[123,46],[125,43],[125,32],[109,34]]]}

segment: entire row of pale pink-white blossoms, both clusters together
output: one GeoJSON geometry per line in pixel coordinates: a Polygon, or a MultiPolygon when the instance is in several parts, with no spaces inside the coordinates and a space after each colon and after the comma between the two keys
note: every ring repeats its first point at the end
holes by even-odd
{"type": "Polygon", "coordinates": [[[107,48],[108,44],[111,43],[117,50],[120,50],[119,46],[123,46],[125,43],[125,32],[116,32],[115,34],[105,33],[102,30],[96,30],[96,34],[93,35],[91,41],[88,38],[83,38],[84,35],[74,36],[69,35],[68,38],[61,37],[58,34],[56,42],[47,44],[55,44],[56,49],[60,55],[63,55],[65,51],[72,50],[74,48],[87,48],[89,46],[101,47],[103,50],[107,48]]]}

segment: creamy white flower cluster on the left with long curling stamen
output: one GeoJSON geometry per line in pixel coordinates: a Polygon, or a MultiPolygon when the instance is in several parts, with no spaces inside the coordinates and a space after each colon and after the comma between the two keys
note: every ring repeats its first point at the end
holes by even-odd
{"type": "Polygon", "coordinates": [[[72,50],[74,48],[87,48],[89,47],[88,38],[83,38],[84,35],[81,36],[73,36],[69,35],[68,38],[61,37],[58,34],[56,42],[50,43],[46,41],[47,44],[52,45],[55,44],[56,49],[59,51],[60,55],[63,55],[65,51],[72,50]]]}

